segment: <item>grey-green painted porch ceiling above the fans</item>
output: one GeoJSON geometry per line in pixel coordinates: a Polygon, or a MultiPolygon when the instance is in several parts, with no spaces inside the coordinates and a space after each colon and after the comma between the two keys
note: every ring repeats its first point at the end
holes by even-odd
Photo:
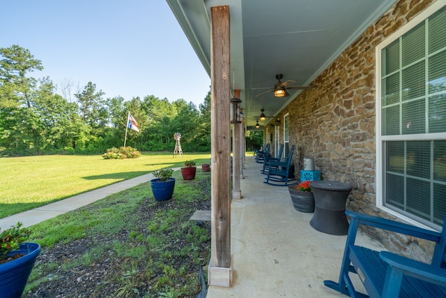
{"type": "MultiPolygon", "coordinates": [[[[166,0],[210,74],[210,8],[229,5],[231,88],[240,89],[246,125],[261,109],[275,117],[300,90],[256,97],[276,82],[307,85],[397,0],[166,0]]],[[[259,121],[261,128],[265,122],[259,121]]],[[[259,129],[261,129],[259,128],[259,129]]]]}

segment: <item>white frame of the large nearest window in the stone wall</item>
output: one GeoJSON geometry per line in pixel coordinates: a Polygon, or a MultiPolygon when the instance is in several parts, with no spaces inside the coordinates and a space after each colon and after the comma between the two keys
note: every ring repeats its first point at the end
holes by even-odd
{"type": "MultiPolygon", "coordinates": [[[[403,221],[406,221],[412,225],[416,225],[421,228],[427,228],[430,230],[438,230],[433,229],[430,226],[424,225],[419,221],[415,221],[413,218],[409,218],[408,216],[404,216],[403,214],[395,211],[394,209],[390,209],[384,206],[384,198],[383,198],[383,184],[384,184],[384,171],[383,168],[383,151],[384,145],[383,141],[385,140],[445,140],[446,133],[429,133],[429,134],[420,134],[420,135],[381,135],[381,50],[383,50],[387,45],[390,45],[392,42],[403,36],[404,33],[410,31],[421,22],[424,22],[428,17],[436,13],[438,10],[443,8],[446,5],[445,0],[438,0],[436,3],[433,3],[429,8],[422,11],[420,15],[417,15],[410,22],[405,24],[401,29],[395,31],[390,36],[388,36],[382,43],[376,46],[375,49],[375,57],[376,57],[376,71],[375,71],[375,82],[376,82],[376,207],[382,209],[383,211],[395,216],[396,218],[400,218],[403,221]]],[[[441,228],[441,227],[438,227],[441,228]]]]}

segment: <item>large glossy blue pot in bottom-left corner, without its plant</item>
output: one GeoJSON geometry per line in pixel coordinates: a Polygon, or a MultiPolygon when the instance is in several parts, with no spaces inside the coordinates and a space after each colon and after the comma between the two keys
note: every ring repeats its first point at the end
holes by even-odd
{"type": "Polygon", "coordinates": [[[6,264],[0,265],[0,297],[21,297],[28,281],[29,274],[34,267],[40,253],[40,245],[36,243],[22,243],[20,248],[9,255],[22,253],[24,256],[6,264]]]}

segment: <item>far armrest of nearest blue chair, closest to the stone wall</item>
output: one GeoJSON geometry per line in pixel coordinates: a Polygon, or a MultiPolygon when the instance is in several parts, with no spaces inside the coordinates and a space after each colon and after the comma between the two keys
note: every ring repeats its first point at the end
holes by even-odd
{"type": "Polygon", "coordinates": [[[414,225],[399,223],[397,221],[391,221],[387,218],[380,218],[378,216],[371,216],[369,214],[363,214],[355,211],[346,211],[346,215],[349,216],[352,221],[357,221],[362,225],[369,225],[371,227],[376,227],[392,232],[398,232],[401,234],[406,234],[437,243],[438,241],[440,241],[440,233],[436,231],[426,230],[423,228],[415,227],[414,225]]]}

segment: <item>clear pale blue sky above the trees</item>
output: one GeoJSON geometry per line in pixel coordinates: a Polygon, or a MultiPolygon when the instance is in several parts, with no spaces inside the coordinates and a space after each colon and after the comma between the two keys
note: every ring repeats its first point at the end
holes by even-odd
{"type": "Polygon", "coordinates": [[[104,98],[203,103],[210,78],[165,0],[0,0],[0,47],[42,61],[29,76],[104,98]]]}

